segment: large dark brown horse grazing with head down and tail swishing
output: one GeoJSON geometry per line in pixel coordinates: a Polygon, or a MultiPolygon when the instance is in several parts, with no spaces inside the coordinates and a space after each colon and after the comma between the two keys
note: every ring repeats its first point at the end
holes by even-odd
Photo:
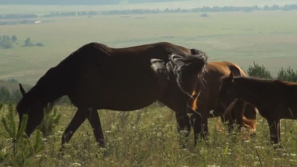
{"type": "MultiPolygon", "coordinates": [[[[43,108],[66,95],[78,110],[62,144],[88,119],[96,141],[104,147],[97,109],[131,111],[158,100],[175,111],[178,130],[190,131],[188,100],[206,64],[202,51],[168,42],[127,48],[88,43],[50,68],[27,93],[20,84],[23,98],[17,112],[20,122],[28,115],[25,133],[30,136],[42,121],[43,108]]],[[[201,129],[198,118],[200,126],[195,127],[201,129]]]]}

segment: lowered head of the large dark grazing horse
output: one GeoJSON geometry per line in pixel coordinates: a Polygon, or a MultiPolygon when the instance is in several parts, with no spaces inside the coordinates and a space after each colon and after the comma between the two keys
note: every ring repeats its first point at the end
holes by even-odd
{"type": "Polygon", "coordinates": [[[33,99],[32,95],[26,93],[23,87],[20,85],[20,91],[23,96],[21,101],[17,104],[17,112],[19,114],[20,123],[23,119],[23,115],[28,115],[27,126],[25,129],[26,135],[29,137],[35,128],[40,125],[43,119],[43,105],[39,99],[33,99]]]}

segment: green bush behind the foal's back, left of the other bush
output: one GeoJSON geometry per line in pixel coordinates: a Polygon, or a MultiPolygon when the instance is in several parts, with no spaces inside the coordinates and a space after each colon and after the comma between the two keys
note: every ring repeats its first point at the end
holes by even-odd
{"type": "Polygon", "coordinates": [[[272,79],[272,76],[268,71],[268,69],[264,67],[264,65],[260,66],[255,62],[254,62],[254,66],[251,66],[251,65],[249,66],[247,72],[250,77],[272,79]]]}

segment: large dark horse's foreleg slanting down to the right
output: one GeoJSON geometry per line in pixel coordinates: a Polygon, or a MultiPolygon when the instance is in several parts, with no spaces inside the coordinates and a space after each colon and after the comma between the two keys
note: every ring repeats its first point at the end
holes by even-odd
{"type": "Polygon", "coordinates": [[[93,132],[94,132],[97,143],[99,144],[100,147],[105,147],[104,135],[102,132],[100,117],[99,117],[97,110],[95,110],[95,109],[89,110],[87,119],[93,128],[93,132]]]}

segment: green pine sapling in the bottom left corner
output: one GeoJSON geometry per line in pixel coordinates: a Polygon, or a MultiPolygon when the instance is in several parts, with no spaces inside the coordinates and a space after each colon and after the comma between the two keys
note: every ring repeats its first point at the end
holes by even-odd
{"type": "Polygon", "coordinates": [[[14,106],[13,104],[8,104],[8,113],[1,118],[1,124],[4,127],[4,129],[1,129],[1,139],[4,138],[8,141],[5,149],[10,151],[0,152],[0,162],[3,165],[26,166],[27,161],[42,150],[41,132],[37,131],[34,143],[31,143],[28,138],[23,137],[27,120],[28,116],[24,115],[17,129],[14,106]]]}

